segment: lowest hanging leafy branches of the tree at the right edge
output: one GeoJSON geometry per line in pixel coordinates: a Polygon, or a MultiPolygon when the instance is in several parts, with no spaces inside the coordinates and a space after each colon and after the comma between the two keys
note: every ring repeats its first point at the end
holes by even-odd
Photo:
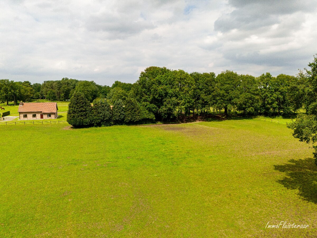
{"type": "Polygon", "coordinates": [[[301,142],[312,143],[315,149],[314,158],[317,165],[317,117],[315,115],[298,115],[296,121],[287,125],[293,129],[293,136],[301,142]]]}

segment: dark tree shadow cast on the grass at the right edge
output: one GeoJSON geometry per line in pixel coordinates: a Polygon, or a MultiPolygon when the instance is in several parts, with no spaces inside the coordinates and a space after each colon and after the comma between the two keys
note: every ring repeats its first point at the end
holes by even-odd
{"type": "Polygon", "coordinates": [[[317,204],[317,166],[313,158],[290,160],[290,164],[274,165],[275,170],[286,173],[278,180],[285,188],[298,189],[299,195],[308,202],[317,204]]]}

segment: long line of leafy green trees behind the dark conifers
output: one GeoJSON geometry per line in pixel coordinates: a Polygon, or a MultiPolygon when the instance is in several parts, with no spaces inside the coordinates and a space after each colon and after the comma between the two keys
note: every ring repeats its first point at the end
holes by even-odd
{"type": "Polygon", "coordinates": [[[290,115],[303,106],[307,111],[317,110],[312,104],[307,75],[297,76],[270,73],[254,77],[238,75],[227,70],[215,73],[187,73],[165,67],[148,67],[137,82],[102,86],[94,81],[63,78],[31,84],[29,81],[0,80],[0,101],[9,104],[34,99],[49,101],[69,100],[75,91],[89,102],[106,99],[111,105],[117,100],[135,100],[158,121],[171,120],[181,114],[208,114],[223,110],[246,115],[290,115]]]}

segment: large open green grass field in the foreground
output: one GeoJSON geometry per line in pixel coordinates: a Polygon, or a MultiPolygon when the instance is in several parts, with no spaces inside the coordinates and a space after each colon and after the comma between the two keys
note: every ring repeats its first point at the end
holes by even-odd
{"type": "Polygon", "coordinates": [[[313,150],[283,123],[1,130],[1,237],[317,234],[313,150]]]}

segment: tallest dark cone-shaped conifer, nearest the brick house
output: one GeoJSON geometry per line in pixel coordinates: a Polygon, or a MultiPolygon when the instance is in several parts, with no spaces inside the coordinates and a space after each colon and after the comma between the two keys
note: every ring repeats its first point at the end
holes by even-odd
{"type": "Polygon", "coordinates": [[[74,127],[84,127],[92,124],[92,107],[81,92],[74,92],[70,99],[67,122],[74,127]]]}

